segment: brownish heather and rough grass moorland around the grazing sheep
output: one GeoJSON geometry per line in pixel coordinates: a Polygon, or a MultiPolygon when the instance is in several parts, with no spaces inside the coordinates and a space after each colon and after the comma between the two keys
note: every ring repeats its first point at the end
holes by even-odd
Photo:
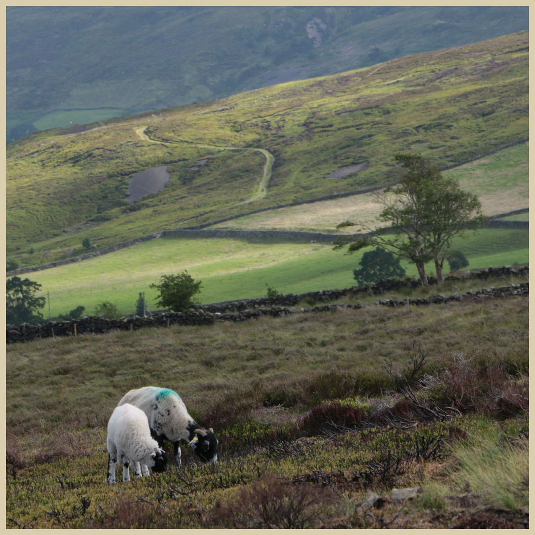
{"type": "Polygon", "coordinates": [[[14,344],[7,526],[522,528],[528,398],[524,297],[14,344]],[[219,462],[186,446],[106,485],[108,418],[149,384],[213,427],[219,462]]]}

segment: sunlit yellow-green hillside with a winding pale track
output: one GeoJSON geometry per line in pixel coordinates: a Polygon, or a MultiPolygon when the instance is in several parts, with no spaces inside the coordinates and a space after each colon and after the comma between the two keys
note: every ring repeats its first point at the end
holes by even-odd
{"type": "Polygon", "coordinates": [[[482,156],[528,135],[527,47],[527,33],[513,34],[162,110],[161,119],[33,134],[7,150],[8,254],[32,264],[24,254],[32,247],[51,261],[74,254],[85,236],[105,247],[384,185],[396,178],[400,150],[442,166],[482,156]],[[265,195],[247,202],[266,162],[251,149],[275,161],[265,195]],[[359,164],[367,166],[326,178],[359,164]],[[124,200],[129,177],[162,165],[166,188],[124,200]]]}

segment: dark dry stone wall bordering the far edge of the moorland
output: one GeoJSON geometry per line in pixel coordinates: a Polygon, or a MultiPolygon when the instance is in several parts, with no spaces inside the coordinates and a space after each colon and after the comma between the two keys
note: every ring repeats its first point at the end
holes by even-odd
{"type": "MultiPolygon", "coordinates": [[[[473,273],[467,273],[464,276],[448,276],[446,280],[460,278],[477,278],[485,280],[488,277],[501,277],[503,279],[511,276],[528,276],[529,267],[525,266],[515,270],[512,266],[503,266],[502,268],[488,268],[473,273]]],[[[429,278],[430,284],[435,284],[437,280],[429,278]]],[[[101,334],[111,330],[133,331],[142,327],[169,327],[171,325],[212,325],[218,322],[232,321],[242,322],[246,319],[258,318],[262,315],[285,316],[286,314],[295,314],[298,312],[326,312],[343,308],[362,308],[362,305],[356,303],[337,303],[344,296],[358,296],[359,294],[380,295],[392,290],[398,290],[404,287],[416,288],[419,282],[414,279],[387,279],[372,285],[365,285],[343,290],[324,290],[320,292],[308,292],[304,294],[286,294],[277,297],[259,297],[258,299],[243,299],[238,301],[227,301],[223,303],[212,303],[197,305],[185,312],[161,311],[151,316],[127,316],[120,319],[108,319],[99,316],[85,316],[77,320],[64,322],[48,322],[45,325],[22,324],[20,327],[7,325],[6,339],[7,343],[28,342],[36,338],[65,337],[77,336],[85,333],[101,334]],[[314,306],[308,308],[295,308],[297,304],[303,302],[314,303],[314,306]],[[322,303],[322,304],[316,304],[322,303]]],[[[506,297],[506,296],[527,296],[529,295],[528,282],[522,282],[519,285],[510,284],[500,287],[483,288],[477,291],[468,291],[463,295],[457,293],[445,296],[442,294],[432,295],[426,298],[414,298],[405,300],[379,300],[375,304],[387,305],[391,307],[406,305],[424,305],[440,304],[450,301],[462,301],[466,299],[485,299],[486,297],[506,297]]]]}

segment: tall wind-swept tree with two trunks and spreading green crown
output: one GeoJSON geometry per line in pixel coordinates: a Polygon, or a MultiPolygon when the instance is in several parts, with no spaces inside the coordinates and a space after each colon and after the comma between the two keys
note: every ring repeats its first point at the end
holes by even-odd
{"type": "MultiPolygon", "coordinates": [[[[464,192],[458,182],[442,177],[439,167],[420,155],[400,153],[394,156],[403,167],[396,186],[377,194],[384,208],[378,219],[387,226],[368,234],[341,236],[334,249],[348,247],[348,252],[368,246],[381,246],[416,264],[422,285],[427,285],[426,262],[434,261],[438,280],[444,280],[442,268],[454,236],[488,223],[481,213],[476,195],[464,192]]],[[[346,221],[338,228],[354,226],[346,221]]]]}

